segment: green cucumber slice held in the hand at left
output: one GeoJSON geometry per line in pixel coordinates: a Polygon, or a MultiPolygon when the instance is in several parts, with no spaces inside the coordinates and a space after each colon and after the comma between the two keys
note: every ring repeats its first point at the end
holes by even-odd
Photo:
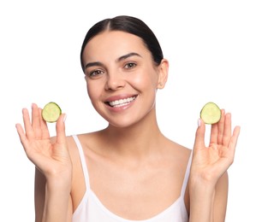
{"type": "Polygon", "coordinates": [[[42,110],[42,117],[46,122],[53,123],[62,114],[62,109],[56,102],[48,102],[42,110]]]}

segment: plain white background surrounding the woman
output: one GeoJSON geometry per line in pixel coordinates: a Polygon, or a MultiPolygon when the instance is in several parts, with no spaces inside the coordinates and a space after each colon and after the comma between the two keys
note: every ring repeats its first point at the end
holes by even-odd
{"type": "MultiPolygon", "coordinates": [[[[32,1],[0,3],[0,198],[2,221],[33,221],[33,164],[15,123],[21,108],[55,101],[67,134],[106,126],[86,95],[80,45],[98,20],[134,15],[146,21],[170,61],[158,91],[158,121],[167,137],[193,147],[200,108],[213,101],[241,126],[229,168],[228,222],[255,214],[256,7],[254,1],[32,1]],[[168,4],[167,4],[168,3],[168,4]]],[[[54,125],[50,126],[55,135],[54,125]]]]}

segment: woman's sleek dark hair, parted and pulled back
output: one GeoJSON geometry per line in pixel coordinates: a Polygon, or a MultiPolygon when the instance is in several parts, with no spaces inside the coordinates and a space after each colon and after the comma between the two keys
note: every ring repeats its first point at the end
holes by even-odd
{"type": "Polygon", "coordinates": [[[92,26],[86,33],[80,50],[80,63],[83,70],[82,54],[86,44],[98,33],[104,32],[105,30],[128,32],[140,37],[146,44],[146,48],[151,52],[152,59],[157,65],[159,65],[164,58],[163,51],[158,43],[158,38],[156,38],[152,30],[146,26],[145,22],[132,16],[120,15],[112,19],[98,21],[98,23],[92,26]]]}

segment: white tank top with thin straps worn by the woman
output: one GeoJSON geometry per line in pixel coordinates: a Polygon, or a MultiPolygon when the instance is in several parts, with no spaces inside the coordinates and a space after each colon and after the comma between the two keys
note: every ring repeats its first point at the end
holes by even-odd
{"type": "Polygon", "coordinates": [[[188,176],[190,172],[191,157],[188,161],[187,170],[183,179],[181,196],[178,197],[170,207],[165,209],[162,213],[144,220],[130,220],[123,219],[115,213],[111,213],[90,188],[89,174],[86,166],[86,159],[78,137],[75,135],[74,142],[79,150],[80,162],[85,177],[86,193],[83,196],[79,206],[75,209],[73,214],[73,222],[188,222],[188,213],[185,207],[184,195],[188,184],[188,176]]]}

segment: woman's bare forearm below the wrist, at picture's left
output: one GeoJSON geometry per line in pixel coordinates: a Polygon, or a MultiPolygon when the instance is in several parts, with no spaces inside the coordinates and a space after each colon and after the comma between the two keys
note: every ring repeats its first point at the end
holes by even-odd
{"type": "Polygon", "coordinates": [[[67,222],[70,184],[63,181],[46,183],[43,222],[67,222]]]}

